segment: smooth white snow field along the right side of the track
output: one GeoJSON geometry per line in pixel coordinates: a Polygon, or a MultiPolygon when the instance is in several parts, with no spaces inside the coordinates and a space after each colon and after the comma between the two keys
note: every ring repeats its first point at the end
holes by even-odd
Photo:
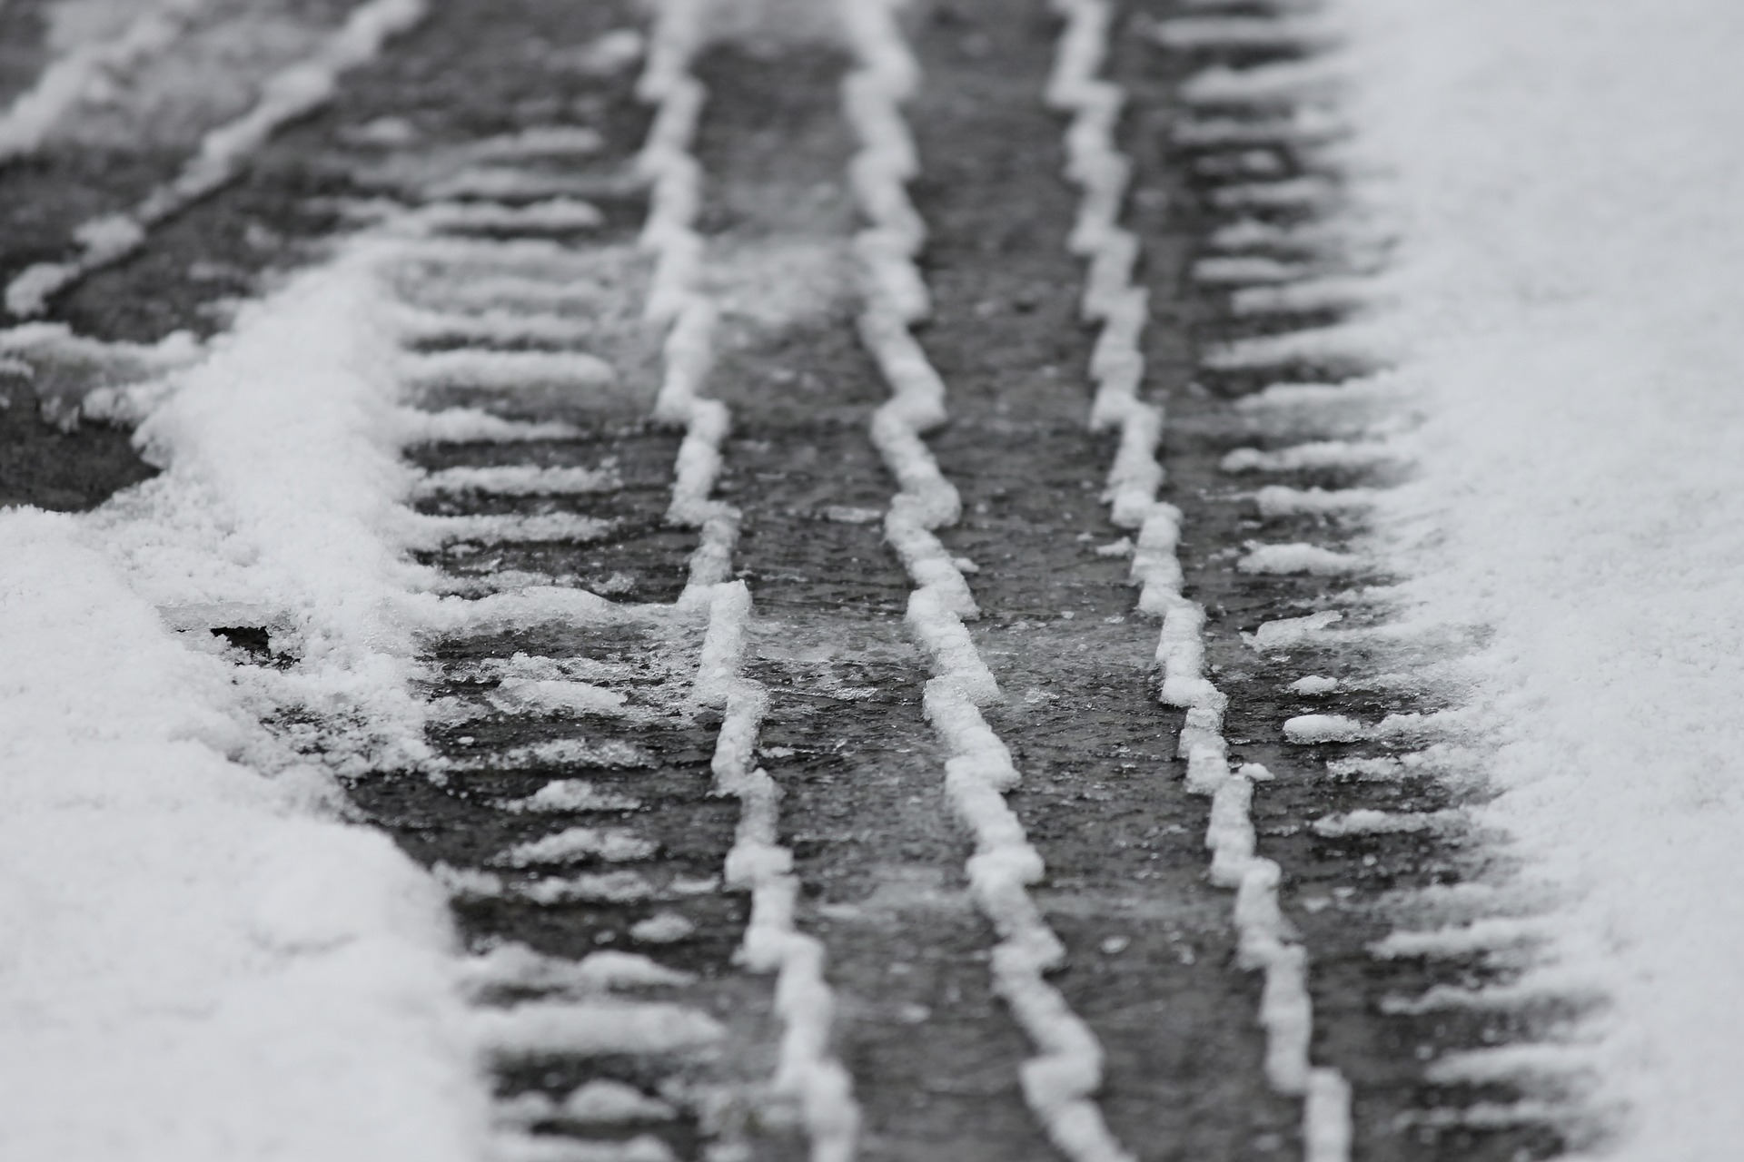
{"type": "Polygon", "coordinates": [[[1383,308],[1425,395],[1393,495],[1427,618],[1488,625],[1484,732],[1617,1157],[1744,1150],[1744,9],[1336,0],[1383,308]]]}

